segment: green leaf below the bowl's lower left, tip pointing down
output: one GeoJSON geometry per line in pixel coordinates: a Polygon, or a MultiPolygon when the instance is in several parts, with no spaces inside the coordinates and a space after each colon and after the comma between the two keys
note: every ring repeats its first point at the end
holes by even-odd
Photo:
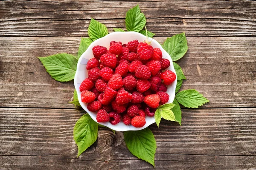
{"type": "Polygon", "coordinates": [[[84,114],[76,122],[73,135],[78,146],[77,157],[96,141],[98,137],[98,127],[98,123],[94,122],[89,114],[84,114]]]}

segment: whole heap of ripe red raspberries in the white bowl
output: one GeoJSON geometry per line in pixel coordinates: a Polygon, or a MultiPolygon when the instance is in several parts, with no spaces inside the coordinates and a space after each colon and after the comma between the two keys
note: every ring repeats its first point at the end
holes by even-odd
{"type": "Polygon", "coordinates": [[[97,122],[143,127],[145,116],[154,116],[156,108],[168,102],[166,85],[176,75],[166,70],[170,61],[162,58],[160,48],[138,40],[111,41],[109,50],[94,46],[93,56],[80,91],[81,101],[96,113],[97,122]]]}

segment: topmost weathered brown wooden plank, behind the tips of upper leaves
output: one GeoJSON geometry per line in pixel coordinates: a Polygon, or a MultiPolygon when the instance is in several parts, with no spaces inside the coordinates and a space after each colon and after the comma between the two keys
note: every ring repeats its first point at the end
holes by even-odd
{"type": "MultiPolygon", "coordinates": [[[[90,18],[109,31],[124,28],[136,1],[1,1],[0,36],[87,36],[90,18]]],[[[256,36],[255,1],[140,1],[148,30],[157,36],[256,36]]]]}

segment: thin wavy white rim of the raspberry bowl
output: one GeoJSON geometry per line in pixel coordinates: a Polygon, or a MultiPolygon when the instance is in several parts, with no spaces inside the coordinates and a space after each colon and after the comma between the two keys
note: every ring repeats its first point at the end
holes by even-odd
{"type": "MultiPolygon", "coordinates": [[[[107,37],[116,36],[116,35],[120,35],[120,34],[133,34],[133,35],[135,35],[135,36],[143,36],[143,37],[145,38],[145,40],[147,39],[147,37],[146,37],[145,35],[140,34],[140,33],[138,33],[138,32],[134,32],[134,31],[112,32],[112,33],[109,33],[109,34],[107,34],[106,36],[104,36],[104,37],[102,37],[102,38],[99,38],[99,39],[93,41],[93,42],[88,46],[87,50],[90,49],[91,46],[95,46],[99,41],[101,41],[101,40],[103,40],[103,39],[105,39],[105,38],[107,38],[107,37]]],[[[122,37],[121,37],[121,38],[122,38],[122,37]]],[[[172,58],[171,58],[171,56],[168,54],[168,52],[163,49],[162,45],[161,45],[159,42],[157,42],[157,40],[154,40],[153,38],[148,37],[148,41],[149,41],[149,42],[152,42],[152,41],[156,42],[157,45],[158,45],[157,48],[160,48],[160,50],[162,51],[162,53],[166,53],[165,55],[168,55],[167,57],[168,57],[168,59],[170,60],[170,68],[172,68],[172,71],[176,74],[176,71],[175,71],[174,66],[173,66],[173,63],[172,63],[172,58]]],[[[127,42],[126,42],[126,43],[127,43],[127,42]]],[[[155,47],[155,48],[156,48],[156,47],[155,47]]],[[[79,88],[77,87],[77,84],[78,84],[77,81],[78,81],[78,77],[79,77],[79,75],[78,75],[78,70],[79,70],[79,67],[80,67],[80,65],[81,65],[81,64],[80,64],[80,63],[81,63],[81,60],[84,58],[85,54],[87,53],[87,50],[84,51],[84,53],[80,56],[80,58],[79,58],[79,60],[78,60],[78,62],[77,62],[77,68],[76,68],[77,71],[76,71],[76,74],[75,74],[75,77],[74,77],[74,86],[75,86],[75,88],[76,88],[77,94],[80,93],[80,90],[79,90],[79,88]],[[78,89],[77,89],[77,88],[78,88],[78,89]]],[[[177,85],[177,74],[176,74],[176,79],[175,79],[175,81],[173,82],[172,85],[175,86],[175,88],[176,88],[176,85],[177,85]]],[[[174,91],[175,91],[175,88],[174,88],[174,91]]],[[[171,102],[173,102],[174,98],[175,98],[175,93],[174,93],[173,99],[171,99],[171,102]]],[[[95,114],[95,113],[94,113],[94,112],[91,112],[91,111],[88,111],[87,107],[84,107],[84,103],[81,102],[81,96],[79,96],[79,95],[78,95],[78,100],[79,100],[79,103],[80,103],[81,107],[84,109],[84,111],[86,111],[86,112],[90,115],[90,117],[91,117],[95,122],[97,122],[97,121],[96,121],[96,117],[94,118],[93,116],[91,116],[91,114],[95,114]]],[[[153,118],[154,118],[154,117],[153,117],[153,118]]],[[[143,127],[139,127],[139,128],[137,127],[137,128],[135,128],[135,129],[127,129],[127,130],[120,130],[120,129],[117,129],[115,125],[108,125],[108,124],[106,125],[104,122],[103,122],[103,123],[102,123],[102,122],[97,122],[97,123],[100,124],[100,125],[109,127],[110,129],[116,130],[116,131],[128,131],[128,130],[134,131],[134,130],[142,130],[142,129],[145,129],[145,128],[148,127],[149,125],[155,123],[155,118],[154,118],[154,121],[149,122],[149,123],[147,124],[147,126],[144,125],[143,127]],[[111,126],[111,127],[110,127],[110,126],[111,126]]],[[[132,126],[132,125],[128,125],[128,126],[132,126]]]]}

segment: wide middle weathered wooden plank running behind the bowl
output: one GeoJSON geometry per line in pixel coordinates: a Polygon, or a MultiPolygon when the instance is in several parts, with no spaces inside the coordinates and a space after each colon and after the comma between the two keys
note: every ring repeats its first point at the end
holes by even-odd
{"type": "MultiPolygon", "coordinates": [[[[166,37],[155,37],[163,42],[166,37]]],[[[256,105],[256,39],[188,37],[189,51],[178,61],[187,78],[182,89],[196,89],[205,108],[256,105]]],[[[0,38],[0,106],[73,108],[73,81],[52,79],[36,57],[76,54],[80,38],[0,38]],[[6,95],[8,94],[8,95],[6,95]]]]}

